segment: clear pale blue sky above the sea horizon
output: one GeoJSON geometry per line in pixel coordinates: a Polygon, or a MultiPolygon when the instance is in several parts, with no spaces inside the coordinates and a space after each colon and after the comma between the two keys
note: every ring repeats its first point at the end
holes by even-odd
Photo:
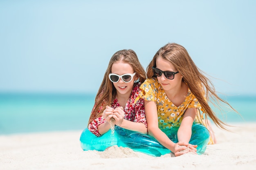
{"type": "Polygon", "coordinates": [[[0,92],[96,93],[110,57],[183,45],[216,90],[256,95],[254,0],[0,1],[0,92]]]}

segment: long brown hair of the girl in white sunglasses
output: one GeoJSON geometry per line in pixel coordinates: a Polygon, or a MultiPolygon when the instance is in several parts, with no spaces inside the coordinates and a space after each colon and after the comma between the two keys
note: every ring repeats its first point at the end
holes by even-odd
{"type": "Polygon", "coordinates": [[[108,68],[105,72],[103,80],[101,82],[101,86],[99,87],[99,91],[95,97],[95,106],[90,115],[88,124],[90,124],[94,119],[102,115],[103,110],[106,106],[109,106],[114,102],[114,99],[117,97],[117,90],[113,83],[108,78],[108,75],[111,73],[112,65],[115,62],[126,62],[130,64],[136,73],[137,77],[139,77],[139,82],[144,82],[146,79],[146,71],[143,66],[139,62],[137,54],[135,51],[131,49],[124,49],[117,51],[114,55],[112,55],[110,62],[108,64],[108,68]],[[101,109],[101,111],[99,111],[101,109]]]}

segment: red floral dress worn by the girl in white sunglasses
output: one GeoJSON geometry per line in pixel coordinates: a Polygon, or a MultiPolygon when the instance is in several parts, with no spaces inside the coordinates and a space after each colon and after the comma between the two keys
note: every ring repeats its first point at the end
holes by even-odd
{"type": "MultiPolygon", "coordinates": [[[[129,121],[134,121],[134,122],[142,122],[147,127],[145,110],[144,110],[144,99],[139,99],[135,102],[135,99],[139,97],[139,93],[141,92],[141,90],[139,89],[140,85],[141,83],[134,84],[130,98],[128,99],[126,106],[124,108],[124,119],[129,121]]],[[[94,110],[95,106],[96,106],[96,103],[94,104],[92,111],[94,110]]],[[[111,104],[111,107],[115,109],[119,106],[120,104],[118,103],[117,98],[115,98],[114,102],[111,104]]],[[[103,108],[100,108],[100,109],[103,109],[103,108]]],[[[100,111],[101,110],[99,110],[98,112],[100,111]]],[[[92,121],[88,125],[88,129],[94,135],[99,137],[100,134],[98,131],[98,127],[104,122],[106,122],[106,119],[104,119],[103,116],[101,115],[100,117],[94,119],[94,121],[92,121]]]]}

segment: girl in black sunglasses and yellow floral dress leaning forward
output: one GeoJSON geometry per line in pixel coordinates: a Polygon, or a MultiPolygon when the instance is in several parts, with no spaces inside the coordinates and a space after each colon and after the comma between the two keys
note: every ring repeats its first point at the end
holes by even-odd
{"type": "Polygon", "coordinates": [[[218,97],[183,46],[168,43],[160,48],[147,67],[147,77],[140,98],[145,99],[148,134],[175,156],[202,154],[207,144],[216,142],[207,117],[227,130],[209,106],[209,98],[231,106],[218,97]]]}

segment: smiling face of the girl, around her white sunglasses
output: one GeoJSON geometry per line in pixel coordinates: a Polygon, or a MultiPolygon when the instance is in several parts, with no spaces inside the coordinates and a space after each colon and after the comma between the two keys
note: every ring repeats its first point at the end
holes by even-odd
{"type": "MultiPolygon", "coordinates": [[[[133,74],[134,71],[132,69],[132,66],[125,62],[115,62],[112,65],[111,73],[117,74],[117,75],[124,75],[127,73],[133,74]]],[[[130,82],[124,82],[121,78],[119,78],[118,82],[113,82],[113,85],[117,89],[117,96],[118,97],[130,97],[130,93],[132,92],[134,80],[137,78],[135,75],[132,77],[132,80],[130,82]]]]}

